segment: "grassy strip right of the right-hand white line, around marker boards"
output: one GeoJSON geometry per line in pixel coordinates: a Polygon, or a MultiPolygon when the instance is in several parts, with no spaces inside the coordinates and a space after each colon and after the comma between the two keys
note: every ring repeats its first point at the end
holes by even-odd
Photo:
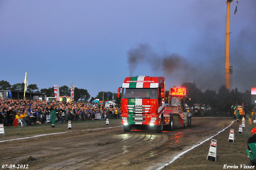
{"type": "MultiPolygon", "coordinates": [[[[182,157],[175,160],[172,164],[166,166],[164,170],[220,170],[227,166],[237,166],[237,168],[228,169],[248,169],[243,165],[249,166],[250,160],[247,157],[245,150],[247,140],[252,136],[252,128],[256,127],[256,124],[248,124],[248,119],[245,120],[245,128],[242,130],[242,134],[238,133],[240,122],[234,122],[229,128],[215,136],[214,140],[217,140],[217,159],[216,162],[206,160],[211,140],[204,142],[202,145],[194,148],[190,152],[184,154],[182,157]],[[228,136],[230,129],[234,129],[235,140],[228,142],[228,136]],[[242,168],[241,168],[242,166],[242,168]]],[[[224,168],[225,169],[225,168],[224,168]]]]}

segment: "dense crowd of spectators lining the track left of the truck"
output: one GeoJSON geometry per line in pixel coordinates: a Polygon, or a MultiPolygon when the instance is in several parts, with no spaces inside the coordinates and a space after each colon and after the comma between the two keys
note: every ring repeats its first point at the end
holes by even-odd
{"type": "Polygon", "coordinates": [[[20,119],[24,126],[35,123],[47,123],[50,108],[57,106],[58,123],[69,120],[104,120],[106,118],[120,118],[121,112],[118,106],[110,105],[108,108],[98,103],[67,102],[62,104],[58,101],[1,99],[0,98],[0,124],[12,126],[15,118],[20,119]]]}

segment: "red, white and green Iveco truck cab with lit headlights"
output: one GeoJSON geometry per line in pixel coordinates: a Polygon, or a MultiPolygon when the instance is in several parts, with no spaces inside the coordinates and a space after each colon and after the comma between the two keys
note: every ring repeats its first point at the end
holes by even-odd
{"type": "Polygon", "coordinates": [[[136,76],[124,79],[121,124],[125,132],[129,132],[132,127],[151,126],[161,133],[163,126],[169,124],[163,116],[164,83],[164,77],[136,76]]]}

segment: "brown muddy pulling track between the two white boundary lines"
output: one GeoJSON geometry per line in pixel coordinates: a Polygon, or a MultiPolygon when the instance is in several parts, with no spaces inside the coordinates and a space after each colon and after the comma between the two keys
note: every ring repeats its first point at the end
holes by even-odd
{"type": "MultiPolygon", "coordinates": [[[[155,170],[226,128],[232,118],[192,118],[192,127],[161,134],[122,127],[2,142],[0,165],[30,170],[155,170]]],[[[7,168],[6,168],[7,169],[7,168]]]]}

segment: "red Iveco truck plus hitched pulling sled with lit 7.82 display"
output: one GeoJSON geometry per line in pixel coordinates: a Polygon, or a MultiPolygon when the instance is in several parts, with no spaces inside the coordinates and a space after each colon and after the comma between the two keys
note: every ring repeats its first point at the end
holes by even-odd
{"type": "MultiPolygon", "coordinates": [[[[185,112],[184,96],[186,88],[176,88],[165,104],[164,77],[135,76],[126,77],[122,85],[121,124],[125,132],[131,128],[150,126],[156,132],[173,130],[191,125],[191,114],[185,112]],[[177,102],[178,98],[178,102],[177,102]],[[174,101],[176,100],[176,101],[174,101]]],[[[118,88],[120,97],[121,88],[118,88]]]]}

